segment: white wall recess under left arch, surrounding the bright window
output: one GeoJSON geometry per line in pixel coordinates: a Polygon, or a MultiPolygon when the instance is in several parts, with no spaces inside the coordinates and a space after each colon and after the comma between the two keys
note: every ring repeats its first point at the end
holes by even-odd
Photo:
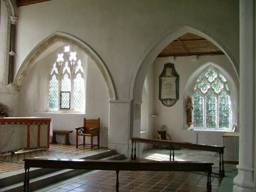
{"type": "MultiPolygon", "coordinates": [[[[61,46],[63,43],[59,43],[61,46]]],[[[100,117],[100,145],[108,146],[108,131],[103,127],[108,127],[108,107],[109,94],[106,83],[100,73],[96,63],[87,57],[80,50],[76,50],[84,68],[85,85],[86,85],[86,111],[84,113],[54,113],[48,110],[48,87],[49,74],[52,64],[57,59],[57,54],[62,50],[63,46],[57,47],[48,54],[42,54],[33,68],[29,71],[25,82],[23,83],[19,97],[19,116],[37,116],[51,117],[53,129],[73,130],[70,134],[71,144],[75,144],[75,127],[83,126],[83,118],[100,117]]],[[[49,51],[47,51],[49,52],[49,51]]],[[[63,143],[64,137],[57,136],[57,142],[63,143]]],[[[82,137],[79,137],[79,143],[82,143],[82,137]]],[[[90,138],[86,137],[86,143],[90,143],[90,138]]],[[[94,143],[97,143],[97,137],[94,137],[94,143]]]]}

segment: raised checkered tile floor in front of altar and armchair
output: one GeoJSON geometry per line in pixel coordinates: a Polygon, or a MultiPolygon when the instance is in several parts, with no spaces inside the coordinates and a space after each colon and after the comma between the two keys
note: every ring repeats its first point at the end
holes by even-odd
{"type": "Polygon", "coordinates": [[[37,150],[22,150],[15,154],[0,155],[0,173],[7,171],[14,171],[23,168],[23,159],[28,157],[45,157],[45,158],[75,158],[78,155],[90,154],[93,151],[100,151],[101,149],[91,150],[90,147],[66,146],[61,144],[51,144],[49,149],[37,150]]]}

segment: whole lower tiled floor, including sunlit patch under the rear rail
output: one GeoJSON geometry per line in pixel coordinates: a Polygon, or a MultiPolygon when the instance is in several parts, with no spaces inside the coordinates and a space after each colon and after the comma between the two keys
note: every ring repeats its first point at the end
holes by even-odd
{"type": "MultiPolygon", "coordinates": [[[[185,151],[175,151],[179,161],[219,161],[215,153],[207,151],[196,151],[184,149],[185,151]],[[200,153],[201,152],[201,153],[200,153]],[[206,152],[206,153],[204,153],[206,152]],[[209,155],[211,157],[209,157],[209,155]],[[193,159],[193,160],[190,160],[193,159]],[[199,159],[201,158],[201,159],[199,159]],[[217,159],[217,160],[216,160],[217,159]]],[[[149,149],[143,157],[157,161],[169,160],[169,150],[149,149]],[[166,159],[167,158],[167,159],[166,159]]],[[[226,176],[219,178],[212,175],[212,191],[231,192],[233,191],[233,179],[237,174],[235,165],[225,165],[226,176]]],[[[218,170],[218,169],[217,169],[218,170]]],[[[207,175],[201,172],[151,172],[151,171],[121,171],[119,173],[119,191],[176,191],[176,192],[195,192],[206,191],[207,175]]],[[[71,178],[62,182],[55,183],[49,187],[39,189],[37,192],[65,192],[65,191],[86,191],[104,192],[116,191],[115,171],[98,171],[91,174],[86,173],[80,177],[71,178]]]]}

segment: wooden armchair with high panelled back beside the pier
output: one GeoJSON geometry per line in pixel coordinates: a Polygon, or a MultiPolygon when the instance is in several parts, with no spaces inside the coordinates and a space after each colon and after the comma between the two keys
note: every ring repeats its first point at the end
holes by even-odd
{"type": "Polygon", "coordinates": [[[83,136],[83,144],[80,145],[91,145],[91,149],[94,146],[100,148],[100,118],[98,119],[86,119],[84,118],[84,126],[76,128],[76,148],[78,148],[78,136],[83,136]],[[98,137],[98,145],[93,145],[93,137],[98,137]],[[91,143],[85,143],[85,137],[91,137],[91,143]]]}

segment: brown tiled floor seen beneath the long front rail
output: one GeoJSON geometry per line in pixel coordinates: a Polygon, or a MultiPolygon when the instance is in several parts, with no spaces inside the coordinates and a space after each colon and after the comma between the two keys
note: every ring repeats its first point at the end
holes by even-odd
{"type": "MultiPolygon", "coordinates": [[[[195,192],[206,191],[207,175],[197,172],[153,172],[153,171],[120,171],[119,191],[177,191],[195,192]]],[[[212,191],[218,191],[222,179],[212,177],[212,191]]],[[[229,186],[230,187],[230,186],[229,186]]],[[[116,172],[99,171],[69,181],[65,184],[59,183],[48,188],[37,190],[38,192],[65,192],[65,191],[86,191],[105,192],[116,191],[116,172]]],[[[227,190],[224,190],[227,192],[227,190]]]]}

